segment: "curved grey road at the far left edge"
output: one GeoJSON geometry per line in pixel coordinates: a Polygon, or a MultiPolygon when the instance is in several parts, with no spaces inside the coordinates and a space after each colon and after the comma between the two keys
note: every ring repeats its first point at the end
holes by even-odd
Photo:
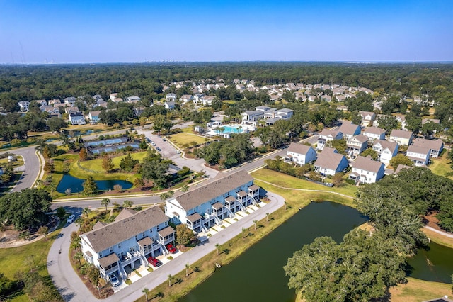
{"type": "MultiPolygon", "coordinates": [[[[35,150],[35,146],[9,150],[8,152],[23,157],[24,165],[19,167],[23,171],[21,179],[17,182],[12,191],[20,192],[23,189],[31,188],[35,185],[36,179],[40,175],[40,160],[35,150]]],[[[1,152],[1,154],[6,152],[1,152]]],[[[42,157],[42,156],[41,156],[42,157]]]]}

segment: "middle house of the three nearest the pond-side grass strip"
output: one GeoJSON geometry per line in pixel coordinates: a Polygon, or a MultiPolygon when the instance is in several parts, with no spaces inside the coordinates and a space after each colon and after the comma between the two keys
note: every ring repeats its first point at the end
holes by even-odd
{"type": "Polygon", "coordinates": [[[345,155],[339,154],[337,150],[324,147],[314,162],[314,170],[321,175],[335,175],[348,167],[348,160],[345,155]]]}

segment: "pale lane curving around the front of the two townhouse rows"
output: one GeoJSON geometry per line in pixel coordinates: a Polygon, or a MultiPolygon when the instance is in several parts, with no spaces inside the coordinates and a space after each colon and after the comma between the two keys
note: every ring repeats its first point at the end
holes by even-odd
{"type": "MultiPolygon", "coordinates": [[[[250,228],[253,225],[253,220],[261,220],[266,217],[266,213],[273,213],[278,208],[285,204],[285,199],[282,196],[268,192],[270,202],[265,206],[258,208],[248,216],[236,221],[228,228],[221,230],[219,233],[212,235],[209,240],[198,245],[188,252],[183,253],[179,257],[171,260],[171,262],[156,269],[151,274],[144,276],[142,279],[134,282],[125,289],[115,293],[115,295],[106,298],[103,301],[134,301],[140,296],[143,296],[142,289],[154,289],[168,280],[168,275],[176,275],[185,269],[186,263],[194,263],[198,259],[204,257],[216,249],[215,245],[223,245],[233,237],[242,233],[242,228],[250,228]]],[[[96,298],[91,294],[83,284],[79,276],[71,267],[69,261],[69,245],[71,242],[71,232],[77,229],[75,223],[71,223],[62,229],[60,236],[55,240],[50,248],[47,257],[47,270],[64,298],[64,301],[94,301],[96,298]]]]}

